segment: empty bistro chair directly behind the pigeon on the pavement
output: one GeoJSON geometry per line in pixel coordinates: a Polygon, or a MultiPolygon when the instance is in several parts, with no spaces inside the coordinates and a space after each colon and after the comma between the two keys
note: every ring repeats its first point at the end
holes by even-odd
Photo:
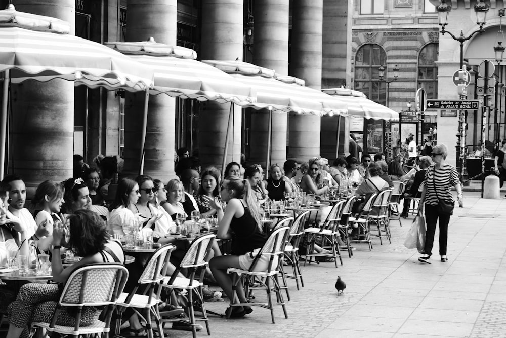
{"type": "Polygon", "coordinates": [[[305,263],[308,261],[308,257],[330,256],[328,253],[314,252],[316,241],[320,239],[320,246],[322,248],[331,249],[331,257],[334,258],[335,267],[338,267],[338,257],[341,265],[343,265],[343,258],[341,257],[341,252],[339,251],[338,225],[339,221],[341,220],[339,218],[339,214],[341,213],[341,210],[343,209],[345,203],[346,200],[336,203],[328,213],[325,221],[321,223],[321,226],[319,228],[308,228],[304,230],[304,234],[306,235],[308,243],[305,263]]]}

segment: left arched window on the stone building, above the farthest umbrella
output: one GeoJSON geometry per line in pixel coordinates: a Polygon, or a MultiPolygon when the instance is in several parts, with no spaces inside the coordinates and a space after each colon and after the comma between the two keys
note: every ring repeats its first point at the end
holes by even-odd
{"type": "MultiPolygon", "coordinates": [[[[383,105],[387,99],[387,84],[379,80],[378,68],[386,64],[387,53],[376,44],[363,45],[355,55],[355,89],[383,105]]],[[[385,73],[385,77],[391,76],[385,73]]]]}

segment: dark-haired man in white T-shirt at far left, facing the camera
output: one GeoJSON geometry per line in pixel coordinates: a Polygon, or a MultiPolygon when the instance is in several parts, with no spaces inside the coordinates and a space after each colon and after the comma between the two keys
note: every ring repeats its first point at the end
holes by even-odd
{"type": "Polygon", "coordinates": [[[24,229],[27,239],[38,240],[41,237],[49,236],[50,234],[46,230],[46,223],[41,223],[37,226],[30,211],[24,207],[26,202],[26,186],[21,177],[14,174],[7,175],[2,183],[9,185],[7,219],[13,223],[19,223],[24,229]]]}

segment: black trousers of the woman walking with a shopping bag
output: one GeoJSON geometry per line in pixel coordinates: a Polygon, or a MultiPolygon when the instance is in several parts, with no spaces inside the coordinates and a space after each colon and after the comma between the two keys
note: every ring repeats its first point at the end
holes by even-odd
{"type": "Polygon", "coordinates": [[[439,219],[439,254],[446,255],[446,244],[448,241],[448,223],[450,215],[441,215],[438,213],[437,205],[425,205],[425,222],[427,233],[425,235],[424,253],[432,255],[432,247],[434,246],[434,234],[436,233],[436,223],[439,219]]]}

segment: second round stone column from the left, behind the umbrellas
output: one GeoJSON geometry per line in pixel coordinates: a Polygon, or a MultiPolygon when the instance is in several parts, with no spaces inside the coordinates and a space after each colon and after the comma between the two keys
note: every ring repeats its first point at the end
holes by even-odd
{"type": "MultiPolygon", "coordinates": [[[[176,45],[177,0],[129,0],[126,40],[176,45]]],[[[125,94],[126,175],[139,171],[145,94],[125,94]]],[[[149,97],[144,174],[167,181],[174,178],[176,101],[168,95],[149,97]]]]}

